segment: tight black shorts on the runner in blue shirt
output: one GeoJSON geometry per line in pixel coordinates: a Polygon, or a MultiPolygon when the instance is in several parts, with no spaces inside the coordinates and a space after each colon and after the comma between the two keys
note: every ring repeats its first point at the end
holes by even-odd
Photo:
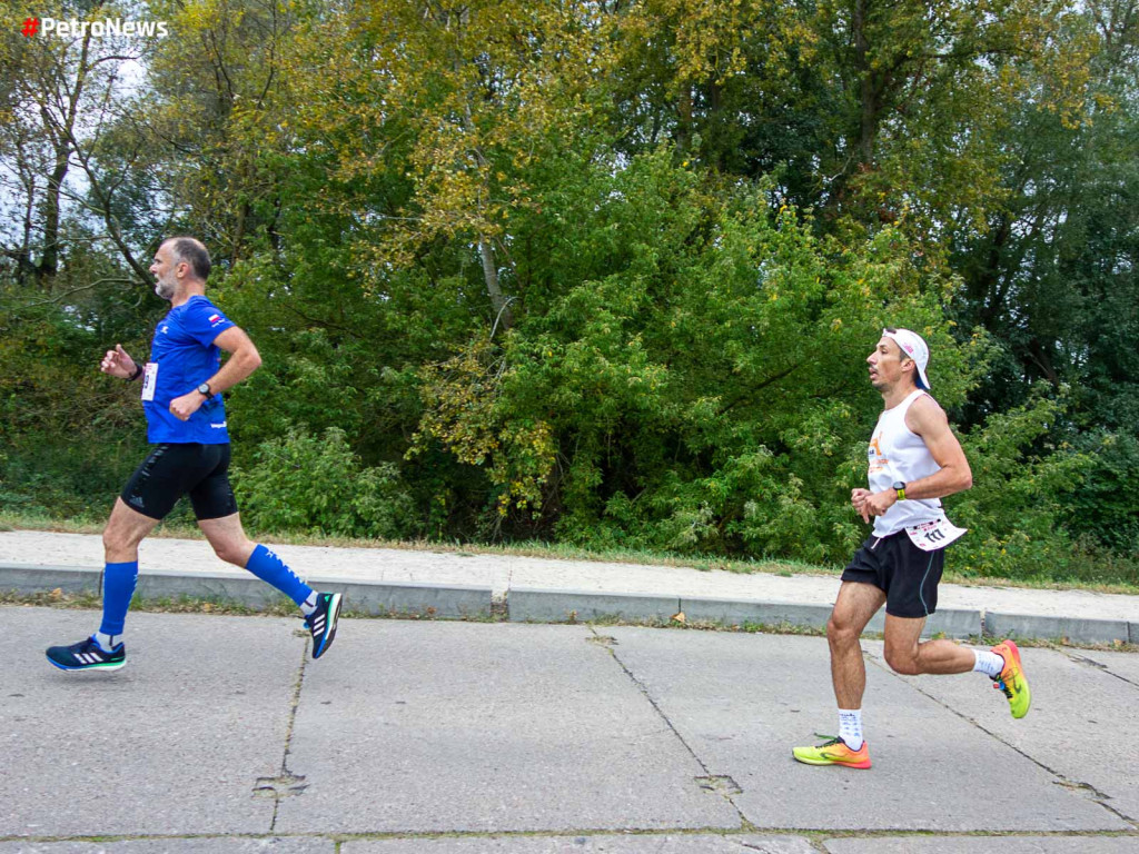
{"type": "Polygon", "coordinates": [[[150,455],[126,482],[121,498],[132,510],[151,519],[164,519],[187,493],[199,520],[237,512],[237,499],[229,485],[229,444],[154,445],[150,455]]]}

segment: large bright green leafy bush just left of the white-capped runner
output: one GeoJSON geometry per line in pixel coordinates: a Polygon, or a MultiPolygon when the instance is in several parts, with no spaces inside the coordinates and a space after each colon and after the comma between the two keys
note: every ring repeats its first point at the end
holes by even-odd
{"type": "Polygon", "coordinates": [[[441,442],[487,470],[491,529],[554,522],[589,540],[615,514],[656,547],[835,559],[854,535],[836,469],[875,403],[867,330],[924,330],[950,404],[981,366],[898,232],[844,251],[754,194],[703,194],[671,163],[662,150],[598,167],[573,211],[551,212],[593,269],[559,277],[501,351],[475,340],[427,369],[416,447],[441,442]]]}

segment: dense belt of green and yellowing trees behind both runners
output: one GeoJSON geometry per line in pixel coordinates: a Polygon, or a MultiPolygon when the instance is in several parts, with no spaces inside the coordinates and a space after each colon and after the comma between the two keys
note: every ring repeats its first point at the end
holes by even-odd
{"type": "Polygon", "coordinates": [[[148,8],[0,36],[7,503],[101,512],[141,429],[93,361],[189,232],[265,358],[263,524],[838,560],[901,323],[978,473],[954,553],[1133,572],[1132,5],[148,8]]]}

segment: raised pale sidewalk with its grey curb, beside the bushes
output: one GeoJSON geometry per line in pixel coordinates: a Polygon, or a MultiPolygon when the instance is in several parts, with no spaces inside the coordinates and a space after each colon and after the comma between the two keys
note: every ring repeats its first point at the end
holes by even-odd
{"type": "MultiPolygon", "coordinates": [[[[490,617],[513,622],[667,621],[821,627],[838,589],[828,575],[741,575],[637,564],[400,549],[274,545],[302,577],[343,590],[353,613],[490,617]]],[[[0,590],[99,590],[100,537],[0,533],[0,590]]],[[[146,540],[144,598],[228,599],[251,606],[274,592],[218,560],[199,540],[146,540]]],[[[883,615],[870,631],[882,631],[883,615]]],[[[1139,597],[943,584],[931,633],[1139,642],[1139,597]]]]}

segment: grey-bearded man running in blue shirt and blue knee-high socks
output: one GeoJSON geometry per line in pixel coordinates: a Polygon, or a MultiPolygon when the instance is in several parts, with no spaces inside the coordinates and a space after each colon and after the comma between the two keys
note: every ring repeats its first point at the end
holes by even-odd
{"type": "Polygon", "coordinates": [[[120,346],[107,351],[100,369],[125,380],[142,379],[142,408],[150,455],[128,481],[103,532],[103,624],[84,641],[51,647],[48,660],[65,671],[118,670],[126,663],[122,642],[126,609],[138,580],[138,547],[189,494],[198,527],[222,560],[245,567],[289,597],[312,632],[312,657],[320,658],[336,637],[339,593],[318,593],[241,528],[229,484],[229,434],[221,393],[261,364],[249,336],[205,297],[210,253],[190,237],[166,239],[150,272],[155,293],[171,303],[158,323],[150,361],[137,364],[120,346]],[[221,364],[221,351],[230,354],[221,364]]]}

